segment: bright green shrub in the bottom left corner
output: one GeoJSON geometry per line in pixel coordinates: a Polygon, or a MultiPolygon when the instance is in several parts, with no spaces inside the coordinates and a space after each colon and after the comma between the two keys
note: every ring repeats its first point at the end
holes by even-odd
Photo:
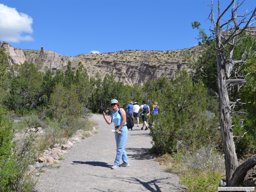
{"type": "Polygon", "coordinates": [[[11,130],[7,112],[0,107],[0,190],[30,191],[36,184],[27,172],[36,158],[35,136],[30,134],[13,141],[11,130]]]}

